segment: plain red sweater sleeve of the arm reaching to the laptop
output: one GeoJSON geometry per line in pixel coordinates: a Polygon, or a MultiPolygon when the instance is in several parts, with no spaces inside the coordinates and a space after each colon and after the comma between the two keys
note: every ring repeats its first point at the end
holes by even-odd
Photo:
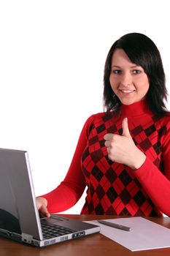
{"type": "Polygon", "coordinates": [[[53,191],[42,195],[42,197],[47,199],[47,208],[50,213],[58,213],[71,208],[77,203],[85,190],[86,183],[85,176],[82,174],[81,159],[82,153],[87,145],[88,130],[92,120],[93,116],[90,116],[82,128],[66,177],[53,191]]]}

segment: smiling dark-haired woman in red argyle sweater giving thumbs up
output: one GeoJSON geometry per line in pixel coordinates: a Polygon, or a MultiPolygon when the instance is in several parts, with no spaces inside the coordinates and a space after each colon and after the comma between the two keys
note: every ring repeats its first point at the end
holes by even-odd
{"type": "Polygon", "coordinates": [[[170,119],[158,48],[144,34],[125,34],[104,68],[104,113],[90,116],[66,178],[37,198],[47,217],[74,206],[81,214],[170,216],[170,119]]]}

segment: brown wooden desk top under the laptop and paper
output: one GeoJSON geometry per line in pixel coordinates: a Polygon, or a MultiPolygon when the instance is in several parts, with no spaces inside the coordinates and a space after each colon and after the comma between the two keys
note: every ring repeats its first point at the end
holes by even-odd
{"type": "MultiPolygon", "coordinates": [[[[80,220],[91,219],[111,219],[112,216],[91,216],[91,215],[62,215],[80,220]]],[[[153,222],[170,228],[170,218],[168,217],[150,217],[153,222]]],[[[170,243],[170,237],[169,237],[170,243]]],[[[0,256],[147,256],[161,255],[169,256],[170,248],[145,250],[141,252],[131,252],[125,247],[117,244],[115,241],[102,236],[93,234],[84,238],[72,241],[65,241],[61,244],[36,248],[27,244],[20,244],[15,241],[9,241],[0,238],[0,256]]]]}

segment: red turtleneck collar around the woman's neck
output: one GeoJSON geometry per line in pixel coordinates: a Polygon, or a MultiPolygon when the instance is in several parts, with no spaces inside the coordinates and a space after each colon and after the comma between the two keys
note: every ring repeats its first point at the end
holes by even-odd
{"type": "Polygon", "coordinates": [[[131,105],[121,105],[121,116],[122,117],[134,117],[134,116],[142,116],[145,113],[152,113],[149,110],[149,106],[147,104],[147,100],[143,99],[139,102],[135,102],[131,105]]]}

